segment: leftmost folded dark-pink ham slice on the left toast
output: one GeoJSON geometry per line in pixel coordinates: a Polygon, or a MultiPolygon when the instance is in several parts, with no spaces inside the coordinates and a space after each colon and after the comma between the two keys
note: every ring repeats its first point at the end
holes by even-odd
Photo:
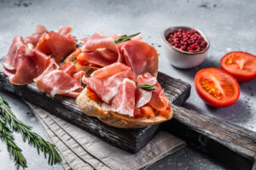
{"type": "Polygon", "coordinates": [[[9,53],[3,62],[3,73],[9,77],[9,81],[16,85],[26,85],[33,82],[49,65],[49,57],[31,43],[27,45],[22,37],[15,37],[9,53]]]}

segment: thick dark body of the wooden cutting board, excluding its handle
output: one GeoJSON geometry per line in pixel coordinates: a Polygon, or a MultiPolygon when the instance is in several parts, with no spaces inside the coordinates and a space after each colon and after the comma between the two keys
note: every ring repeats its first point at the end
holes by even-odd
{"type": "MultiPolygon", "coordinates": [[[[189,97],[189,83],[168,77],[163,73],[159,73],[158,78],[171,102],[181,105],[189,97]]],[[[61,95],[55,95],[55,98],[52,98],[49,94],[40,92],[34,83],[26,86],[15,86],[2,72],[0,73],[0,88],[13,92],[33,104],[39,105],[45,111],[60,116],[68,122],[96,134],[108,143],[132,153],[141,150],[160,129],[160,124],[137,129],[110,127],[94,117],[86,116],[79,110],[74,99],[61,95]]]]}

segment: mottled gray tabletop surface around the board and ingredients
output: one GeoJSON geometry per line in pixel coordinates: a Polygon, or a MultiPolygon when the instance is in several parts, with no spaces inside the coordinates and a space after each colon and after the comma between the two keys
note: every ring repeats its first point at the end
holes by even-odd
{"type": "MultiPolygon", "coordinates": [[[[160,71],[192,85],[191,96],[184,107],[214,116],[226,122],[256,132],[256,79],[242,83],[241,96],[235,105],[214,109],[203,103],[194,88],[196,71],[219,67],[219,59],[233,50],[256,54],[256,1],[8,1],[0,0],[0,56],[7,54],[16,35],[29,36],[37,24],[49,30],[73,26],[73,35],[88,37],[96,31],[104,35],[142,32],[143,40],[160,52],[160,71]],[[166,59],[160,34],[170,26],[193,26],[203,31],[211,42],[205,62],[190,70],[175,69],[166,59]]],[[[0,89],[15,114],[45,137],[31,111],[17,96],[0,89]]],[[[23,144],[20,135],[15,141],[23,149],[27,169],[62,169],[49,167],[44,156],[23,144]]],[[[172,156],[166,156],[149,169],[226,169],[218,161],[201,154],[190,146],[172,156]]],[[[0,169],[15,169],[6,145],[0,141],[0,169]]]]}

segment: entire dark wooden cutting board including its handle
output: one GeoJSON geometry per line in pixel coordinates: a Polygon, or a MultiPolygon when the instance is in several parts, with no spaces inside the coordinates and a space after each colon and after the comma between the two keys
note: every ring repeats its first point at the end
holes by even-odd
{"type": "Polygon", "coordinates": [[[189,97],[189,84],[163,73],[159,74],[158,80],[172,101],[174,110],[172,120],[140,129],[119,129],[84,115],[75,105],[74,99],[64,96],[56,96],[53,99],[48,94],[38,91],[34,84],[12,85],[7,77],[0,73],[1,88],[40,105],[52,114],[61,116],[124,150],[136,153],[160,128],[163,128],[234,169],[256,170],[255,163],[253,166],[256,156],[256,133],[177,106],[182,105],[189,97]]]}

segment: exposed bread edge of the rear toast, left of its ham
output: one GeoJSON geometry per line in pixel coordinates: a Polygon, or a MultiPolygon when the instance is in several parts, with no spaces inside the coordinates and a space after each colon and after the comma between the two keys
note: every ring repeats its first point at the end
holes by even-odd
{"type": "Polygon", "coordinates": [[[76,65],[76,72],[78,71],[85,71],[86,76],[90,77],[90,74],[93,71],[98,70],[99,68],[94,67],[94,66],[84,66],[84,65],[79,65],[76,57],[73,55],[75,52],[72,54],[68,55],[66,59],[64,59],[64,63],[73,63],[73,65],[76,65]]]}

